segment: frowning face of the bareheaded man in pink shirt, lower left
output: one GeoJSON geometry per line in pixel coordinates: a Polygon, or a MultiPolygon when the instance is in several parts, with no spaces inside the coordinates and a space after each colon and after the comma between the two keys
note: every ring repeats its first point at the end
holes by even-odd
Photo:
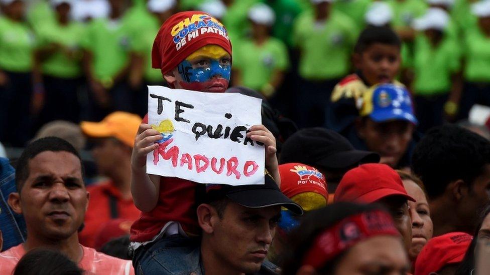
{"type": "Polygon", "coordinates": [[[80,160],[69,152],[45,151],[29,161],[29,177],[20,197],[12,194],[9,203],[24,215],[28,236],[60,240],[77,233],[88,198],[80,160]],[[12,199],[16,196],[18,200],[12,199]]]}

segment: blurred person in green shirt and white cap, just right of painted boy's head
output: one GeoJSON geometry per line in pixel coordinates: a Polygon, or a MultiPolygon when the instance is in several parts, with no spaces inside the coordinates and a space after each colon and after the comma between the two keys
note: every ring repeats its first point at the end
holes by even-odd
{"type": "Polygon", "coordinates": [[[270,36],[274,11],[265,4],[249,10],[252,39],[244,39],[234,52],[234,85],[246,86],[270,98],[281,86],[289,65],[286,45],[270,36]]]}

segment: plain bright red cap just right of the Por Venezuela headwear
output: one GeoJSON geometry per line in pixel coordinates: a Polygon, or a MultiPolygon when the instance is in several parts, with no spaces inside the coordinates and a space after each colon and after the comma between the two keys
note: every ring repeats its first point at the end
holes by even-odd
{"type": "Polygon", "coordinates": [[[387,196],[401,195],[415,201],[407,194],[398,173],[386,164],[362,164],[349,170],[335,190],[334,201],[372,203],[387,196]]]}

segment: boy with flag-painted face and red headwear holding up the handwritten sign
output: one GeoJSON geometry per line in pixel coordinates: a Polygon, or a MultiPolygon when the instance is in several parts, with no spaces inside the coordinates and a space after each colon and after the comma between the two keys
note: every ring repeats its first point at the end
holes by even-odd
{"type": "MultiPolygon", "coordinates": [[[[224,92],[231,70],[231,44],[226,29],[202,12],[175,14],[157,34],[152,66],[161,69],[170,87],[224,92]],[[198,36],[194,36],[196,32],[198,36]]],[[[163,259],[158,257],[168,257],[170,246],[174,250],[188,246],[186,237],[197,236],[201,231],[196,216],[198,184],[146,173],[146,155],[158,148],[156,142],[162,138],[147,122],[145,118],[140,125],[132,156],[131,190],[135,205],[143,212],[131,228],[133,264],[140,273],[165,270],[163,259]],[[171,235],[172,238],[166,237],[171,235]],[[161,252],[163,249],[167,252],[161,252]]],[[[255,125],[247,137],[264,143],[266,168],[279,183],[276,140],[272,133],[263,125],[255,125]]]]}

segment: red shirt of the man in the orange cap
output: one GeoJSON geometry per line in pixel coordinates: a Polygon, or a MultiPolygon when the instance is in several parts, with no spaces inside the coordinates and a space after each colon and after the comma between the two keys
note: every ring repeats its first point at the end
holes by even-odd
{"type": "Polygon", "coordinates": [[[95,247],[95,235],[101,226],[114,218],[137,220],[141,211],[136,208],[132,198],[122,198],[121,192],[111,181],[87,187],[90,193],[88,210],[85,214],[85,227],[78,234],[81,244],[95,247]],[[111,203],[114,209],[111,210],[111,203]],[[114,213],[111,213],[114,212],[114,213]],[[112,215],[116,214],[115,217],[112,215]]]}

